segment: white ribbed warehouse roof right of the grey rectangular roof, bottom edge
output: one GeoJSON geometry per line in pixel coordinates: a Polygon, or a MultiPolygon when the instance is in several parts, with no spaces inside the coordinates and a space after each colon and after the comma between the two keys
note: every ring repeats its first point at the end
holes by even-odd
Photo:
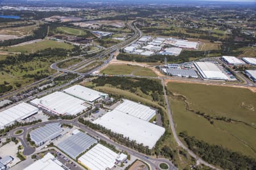
{"type": "Polygon", "coordinates": [[[101,144],[97,144],[82,155],[78,161],[88,169],[105,170],[114,167],[115,159],[117,159],[117,157],[117,153],[101,144]]]}

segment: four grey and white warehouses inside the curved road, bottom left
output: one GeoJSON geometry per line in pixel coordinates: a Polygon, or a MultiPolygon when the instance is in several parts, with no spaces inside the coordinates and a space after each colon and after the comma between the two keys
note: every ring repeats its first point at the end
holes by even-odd
{"type": "MultiPolygon", "coordinates": [[[[30,131],[30,137],[36,145],[40,146],[46,141],[52,141],[59,137],[62,131],[60,124],[52,123],[30,131]]],[[[111,169],[115,163],[122,162],[127,158],[127,155],[110,150],[98,143],[95,138],[77,129],[72,131],[71,136],[60,141],[57,147],[87,169],[93,170],[111,169]]],[[[29,170],[35,168],[35,166],[42,167],[44,170],[51,168],[65,169],[62,164],[56,162],[52,155],[48,154],[26,169],[29,170]]]]}

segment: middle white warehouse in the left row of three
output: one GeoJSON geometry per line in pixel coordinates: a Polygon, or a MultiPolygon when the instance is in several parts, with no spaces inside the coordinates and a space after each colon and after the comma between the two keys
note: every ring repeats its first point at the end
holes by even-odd
{"type": "Polygon", "coordinates": [[[59,91],[44,96],[40,99],[34,99],[31,101],[31,103],[39,108],[45,109],[50,113],[58,115],[76,115],[86,109],[86,107],[82,105],[84,100],[77,99],[76,97],[59,91]]]}

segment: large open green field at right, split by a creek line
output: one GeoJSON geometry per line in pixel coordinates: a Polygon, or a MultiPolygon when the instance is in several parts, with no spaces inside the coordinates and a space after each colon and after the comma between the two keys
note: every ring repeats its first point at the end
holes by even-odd
{"type": "MultiPolygon", "coordinates": [[[[189,107],[194,111],[235,118],[255,125],[256,115],[251,110],[256,104],[255,94],[249,90],[187,83],[168,83],[168,90],[187,97],[189,107]],[[243,107],[242,103],[250,105],[250,109],[243,107]]],[[[214,123],[210,124],[203,116],[188,111],[183,100],[170,97],[170,101],[177,133],[187,131],[188,135],[197,139],[256,158],[255,127],[221,120],[213,120],[214,123]]]]}

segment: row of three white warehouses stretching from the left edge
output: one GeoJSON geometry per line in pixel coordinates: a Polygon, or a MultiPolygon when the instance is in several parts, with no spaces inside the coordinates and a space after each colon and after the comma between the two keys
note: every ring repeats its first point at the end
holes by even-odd
{"type": "Polygon", "coordinates": [[[0,112],[0,129],[13,125],[16,121],[25,120],[38,113],[39,109],[50,114],[75,116],[84,112],[88,108],[88,104],[92,105],[94,101],[107,98],[107,94],[75,85],[63,91],[31,100],[30,104],[20,103],[0,112]]]}

